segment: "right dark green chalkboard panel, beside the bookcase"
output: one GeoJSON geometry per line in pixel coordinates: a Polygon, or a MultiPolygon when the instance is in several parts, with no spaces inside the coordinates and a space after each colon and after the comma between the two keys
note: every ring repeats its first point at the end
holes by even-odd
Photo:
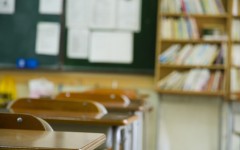
{"type": "Polygon", "coordinates": [[[134,60],[132,64],[90,63],[88,60],[68,59],[65,55],[64,68],[93,71],[153,73],[156,45],[156,18],[157,0],[142,0],[141,32],[134,35],[134,60]]]}

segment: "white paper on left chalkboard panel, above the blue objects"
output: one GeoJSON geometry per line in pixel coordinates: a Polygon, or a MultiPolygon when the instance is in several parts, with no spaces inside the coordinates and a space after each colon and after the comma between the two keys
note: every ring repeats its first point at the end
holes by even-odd
{"type": "Polygon", "coordinates": [[[60,41],[60,24],[40,22],[37,25],[36,53],[58,55],[60,41]]]}

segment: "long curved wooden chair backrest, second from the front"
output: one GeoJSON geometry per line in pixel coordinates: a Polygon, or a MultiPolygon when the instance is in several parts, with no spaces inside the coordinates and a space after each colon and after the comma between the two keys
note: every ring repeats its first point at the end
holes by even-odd
{"type": "Polygon", "coordinates": [[[33,99],[21,98],[13,101],[8,109],[12,112],[31,112],[31,114],[40,114],[48,112],[56,116],[73,117],[73,116],[103,116],[107,113],[106,108],[93,101],[55,101],[51,99],[33,99]]]}

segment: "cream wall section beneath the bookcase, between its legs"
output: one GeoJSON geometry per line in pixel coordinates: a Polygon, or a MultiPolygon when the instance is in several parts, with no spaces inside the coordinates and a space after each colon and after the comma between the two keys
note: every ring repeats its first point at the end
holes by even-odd
{"type": "Polygon", "coordinates": [[[161,95],[159,99],[159,150],[219,149],[220,98],[161,95]]]}

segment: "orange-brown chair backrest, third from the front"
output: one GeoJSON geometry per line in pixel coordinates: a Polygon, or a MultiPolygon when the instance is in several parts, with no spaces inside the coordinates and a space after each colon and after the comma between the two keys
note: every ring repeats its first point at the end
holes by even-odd
{"type": "Polygon", "coordinates": [[[59,93],[56,97],[56,100],[72,100],[72,101],[83,101],[83,100],[93,100],[103,104],[105,107],[128,106],[130,100],[127,96],[116,95],[116,94],[103,94],[103,93],[85,93],[85,92],[63,92],[59,93]]]}

